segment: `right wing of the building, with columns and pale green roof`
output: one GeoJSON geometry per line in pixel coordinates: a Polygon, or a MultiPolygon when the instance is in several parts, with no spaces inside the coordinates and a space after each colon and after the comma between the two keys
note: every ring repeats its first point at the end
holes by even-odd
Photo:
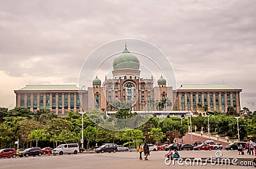
{"type": "Polygon", "coordinates": [[[228,107],[234,107],[240,112],[240,92],[241,89],[230,87],[227,84],[206,84],[206,85],[181,85],[177,89],[177,101],[175,107],[179,110],[191,110],[195,112],[195,107],[207,107],[207,111],[227,112],[228,107]],[[189,97],[188,97],[189,94],[189,97]],[[195,101],[194,101],[195,94],[195,101]],[[184,98],[182,97],[184,96],[184,98]],[[184,105],[180,104],[183,103],[184,105]]]}

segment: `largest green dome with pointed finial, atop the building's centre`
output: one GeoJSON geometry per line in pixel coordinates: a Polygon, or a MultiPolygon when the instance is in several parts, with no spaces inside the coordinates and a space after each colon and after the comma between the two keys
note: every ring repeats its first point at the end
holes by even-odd
{"type": "Polygon", "coordinates": [[[126,47],[124,48],[124,52],[122,54],[118,55],[113,61],[113,69],[114,70],[120,70],[120,69],[134,69],[139,70],[140,69],[140,61],[137,57],[132,55],[126,47]]]}

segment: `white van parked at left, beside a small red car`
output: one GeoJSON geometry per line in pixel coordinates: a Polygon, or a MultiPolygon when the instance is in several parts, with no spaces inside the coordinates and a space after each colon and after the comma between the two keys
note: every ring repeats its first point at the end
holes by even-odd
{"type": "Polygon", "coordinates": [[[65,143],[53,149],[52,155],[56,156],[56,154],[77,154],[77,152],[79,152],[77,143],[65,143]]]}

